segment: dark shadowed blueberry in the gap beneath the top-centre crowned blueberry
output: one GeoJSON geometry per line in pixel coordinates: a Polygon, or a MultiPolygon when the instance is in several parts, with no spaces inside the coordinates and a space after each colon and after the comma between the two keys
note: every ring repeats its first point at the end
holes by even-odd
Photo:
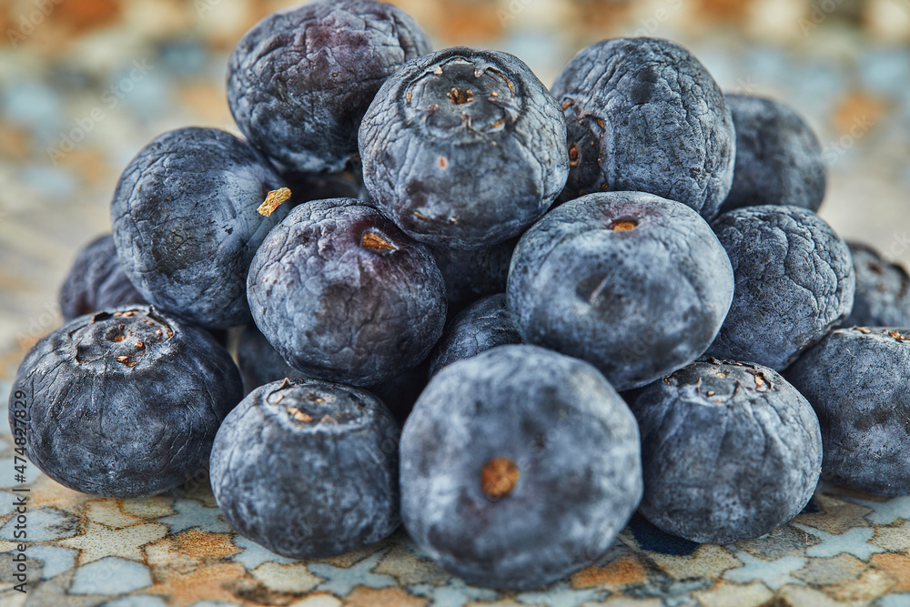
{"type": "Polygon", "coordinates": [[[445,278],[450,309],[460,309],[485,295],[504,292],[512,251],[517,244],[518,238],[510,238],[472,251],[429,246],[445,278]]]}

